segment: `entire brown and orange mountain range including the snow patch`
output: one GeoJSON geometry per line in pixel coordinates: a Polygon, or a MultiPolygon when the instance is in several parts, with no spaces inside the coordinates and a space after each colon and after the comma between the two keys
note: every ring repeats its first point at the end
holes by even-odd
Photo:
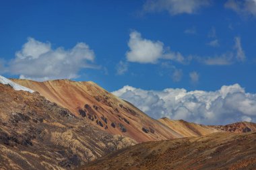
{"type": "MultiPolygon", "coordinates": [[[[196,161],[190,156],[181,160],[182,153],[196,150],[195,156],[202,154],[197,152],[198,141],[199,151],[215,151],[216,144],[236,144],[236,138],[242,141],[237,144],[253,144],[255,131],[256,124],[250,122],[205,126],[169,118],[155,120],[91,81],[37,82],[0,76],[1,169],[150,169],[151,165],[164,169],[169,164],[177,169],[196,161]],[[210,140],[214,138],[218,141],[210,140]],[[179,163],[160,161],[170,157],[167,151],[179,153],[172,155],[179,163]],[[116,161],[121,162],[114,166],[116,161]]],[[[233,152],[234,145],[228,149],[233,152]]],[[[249,151],[251,160],[255,147],[249,151]]],[[[206,159],[212,163],[209,155],[199,161],[206,159]]],[[[209,166],[207,161],[205,166],[209,166]]],[[[234,164],[230,163],[224,166],[234,164]]]]}

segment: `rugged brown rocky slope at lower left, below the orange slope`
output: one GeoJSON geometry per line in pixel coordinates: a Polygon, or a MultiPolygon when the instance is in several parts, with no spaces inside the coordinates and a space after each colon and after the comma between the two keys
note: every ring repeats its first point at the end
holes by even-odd
{"type": "Polygon", "coordinates": [[[88,121],[0,83],[0,169],[73,169],[136,143],[88,121]]]}

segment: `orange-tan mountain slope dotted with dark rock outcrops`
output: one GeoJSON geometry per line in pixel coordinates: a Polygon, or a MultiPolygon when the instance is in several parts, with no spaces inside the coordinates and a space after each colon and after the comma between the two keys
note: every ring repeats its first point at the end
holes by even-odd
{"type": "Polygon", "coordinates": [[[137,142],[183,137],[158,120],[150,118],[131,103],[119,99],[90,81],[13,81],[38,91],[50,101],[67,108],[76,116],[90,120],[92,124],[111,134],[122,134],[137,142]]]}

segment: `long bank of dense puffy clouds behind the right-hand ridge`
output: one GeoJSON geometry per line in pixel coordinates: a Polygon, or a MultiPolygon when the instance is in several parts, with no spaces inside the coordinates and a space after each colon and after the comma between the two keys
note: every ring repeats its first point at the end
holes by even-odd
{"type": "Polygon", "coordinates": [[[199,124],[256,121],[256,94],[246,93],[238,84],[222,86],[217,91],[148,91],[127,85],[113,94],[156,119],[166,116],[199,124]]]}

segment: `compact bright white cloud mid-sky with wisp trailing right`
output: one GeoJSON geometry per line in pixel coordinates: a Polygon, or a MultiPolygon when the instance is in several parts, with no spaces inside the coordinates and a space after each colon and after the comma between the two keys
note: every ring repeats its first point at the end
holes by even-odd
{"type": "Polygon", "coordinates": [[[133,31],[128,42],[130,50],[126,53],[129,62],[156,64],[160,58],[184,62],[185,58],[179,52],[172,52],[160,41],[142,38],[139,32],[133,31]]]}

